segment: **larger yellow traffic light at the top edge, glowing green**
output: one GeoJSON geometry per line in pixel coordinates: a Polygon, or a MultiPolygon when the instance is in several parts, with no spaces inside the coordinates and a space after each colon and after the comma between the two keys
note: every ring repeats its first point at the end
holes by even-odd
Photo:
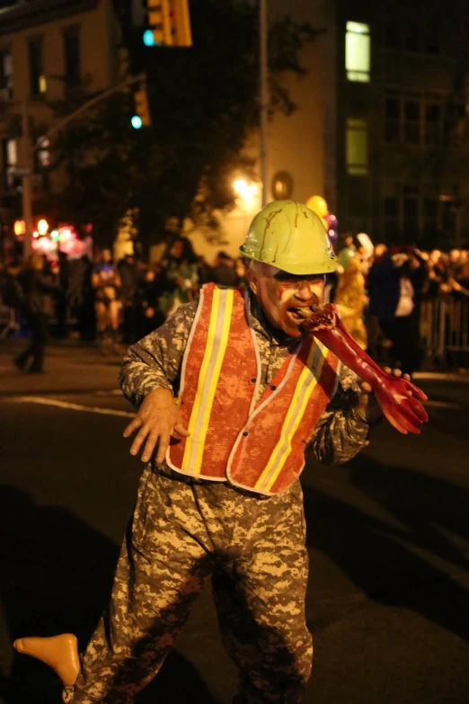
{"type": "Polygon", "coordinates": [[[146,0],[147,47],[191,47],[189,0],[146,0]]]}

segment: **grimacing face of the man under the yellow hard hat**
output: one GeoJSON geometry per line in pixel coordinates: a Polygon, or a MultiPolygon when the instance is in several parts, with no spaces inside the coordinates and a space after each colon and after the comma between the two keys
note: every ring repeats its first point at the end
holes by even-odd
{"type": "Polygon", "coordinates": [[[247,278],[270,325],[290,337],[301,337],[305,308],[323,303],[323,274],[295,275],[270,264],[254,262],[247,278]]]}

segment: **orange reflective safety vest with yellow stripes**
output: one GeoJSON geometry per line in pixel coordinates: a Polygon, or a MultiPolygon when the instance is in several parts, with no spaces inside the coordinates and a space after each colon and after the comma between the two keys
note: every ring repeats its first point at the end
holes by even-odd
{"type": "Polygon", "coordinates": [[[166,460],[191,477],[263,495],[285,491],[305,466],[305,447],[338,382],[339,361],[314,337],[298,341],[256,402],[261,359],[248,294],[207,284],[182,361],[180,411],[189,438],[166,460]]]}

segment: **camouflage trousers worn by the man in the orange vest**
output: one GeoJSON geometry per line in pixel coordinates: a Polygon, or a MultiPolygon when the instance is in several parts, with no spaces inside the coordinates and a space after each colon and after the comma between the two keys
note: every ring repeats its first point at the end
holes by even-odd
{"type": "Polygon", "coordinates": [[[312,639],[305,625],[307,552],[296,482],[272,497],[223,483],[184,483],[146,468],[111,604],[64,701],[129,704],[160,669],[203,584],[240,672],[243,704],[303,700],[312,639]]]}

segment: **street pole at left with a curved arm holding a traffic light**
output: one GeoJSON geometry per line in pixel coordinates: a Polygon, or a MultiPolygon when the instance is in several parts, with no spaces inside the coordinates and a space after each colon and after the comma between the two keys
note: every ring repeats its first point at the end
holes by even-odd
{"type": "Polygon", "coordinates": [[[106,100],[106,98],[109,98],[110,95],[114,93],[119,93],[119,91],[123,91],[126,88],[128,88],[129,85],[134,85],[136,83],[144,83],[146,82],[146,74],[139,74],[138,76],[129,76],[125,81],[122,81],[122,83],[119,83],[119,85],[113,85],[111,88],[108,88],[108,90],[104,91],[103,93],[96,95],[95,98],[92,100],[89,100],[87,102],[84,102],[83,105],[81,105],[78,110],[75,110],[75,112],[71,112],[69,115],[66,115],[66,117],[63,120],[59,120],[54,127],[49,129],[49,132],[46,132],[45,135],[42,135],[40,139],[36,142],[36,144],[31,146],[31,137],[30,137],[30,120],[29,120],[29,114],[28,114],[28,107],[27,107],[27,102],[26,100],[23,100],[22,102],[22,154],[23,154],[23,159],[24,159],[24,165],[25,165],[25,170],[22,175],[22,218],[24,220],[24,248],[23,248],[23,253],[24,257],[26,258],[29,254],[31,254],[31,236],[32,236],[32,192],[31,192],[31,173],[32,173],[32,162],[34,158],[34,154],[38,149],[42,147],[44,142],[47,142],[51,137],[53,137],[55,134],[57,134],[60,129],[64,128],[68,122],[71,122],[72,120],[75,120],[79,115],[82,113],[88,111],[90,108],[93,107],[93,105],[96,105],[98,102],[102,102],[103,100],[106,100]]]}

